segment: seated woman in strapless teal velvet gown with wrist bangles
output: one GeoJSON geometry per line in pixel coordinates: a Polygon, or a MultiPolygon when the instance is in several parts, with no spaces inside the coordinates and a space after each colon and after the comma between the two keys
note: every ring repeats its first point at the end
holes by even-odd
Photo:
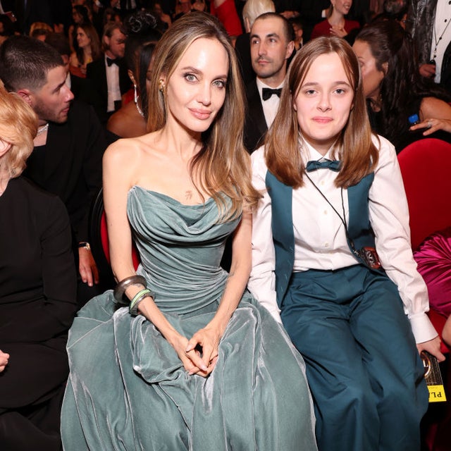
{"type": "Polygon", "coordinates": [[[106,151],[111,266],[117,280],[145,278],[125,290],[129,301],[143,285],[151,292],[136,315],[117,309],[112,291],[78,313],[65,450],[317,449],[302,357],[245,292],[259,193],[242,146],[238,74],[223,27],[187,14],[155,50],[151,132],[106,151]]]}

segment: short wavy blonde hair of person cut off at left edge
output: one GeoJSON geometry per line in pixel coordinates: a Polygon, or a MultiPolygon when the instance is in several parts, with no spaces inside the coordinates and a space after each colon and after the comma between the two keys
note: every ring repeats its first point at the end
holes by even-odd
{"type": "Polygon", "coordinates": [[[0,87],[0,140],[11,144],[11,149],[1,157],[11,178],[18,177],[25,169],[25,161],[35,144],[37,116],[31,106],[16,92],[0,87]]]}

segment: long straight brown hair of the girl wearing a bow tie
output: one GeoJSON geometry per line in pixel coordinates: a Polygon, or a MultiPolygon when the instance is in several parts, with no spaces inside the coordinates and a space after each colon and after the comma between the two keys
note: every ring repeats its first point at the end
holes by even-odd
{"type": "Polygon", "coordinates": [[[302,130],[299,129],[293,104],[311,64],[319,55],[330,53],[338,54],[354,89],[354,107],[335,144],[334,152],[338,152],[335,158],[342,162],[335,185],[350,187],[359,183],[378,162],[378,150],[371,141],[371,127],[357,56],[344,39],[319,37],[304,45],[293,59],[282,89],[278,113],[265,140],[268,170],[285,185],[294,188],[304,184],[304,163],[299,152],[302,130]]]}

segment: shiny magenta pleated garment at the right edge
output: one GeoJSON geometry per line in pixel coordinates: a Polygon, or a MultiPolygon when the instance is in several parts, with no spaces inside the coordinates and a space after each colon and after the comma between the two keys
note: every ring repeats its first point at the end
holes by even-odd
{"type": "Polygon", "coordinates": [[[414,252],[418,271],[428,286],[431,308],[451,314],[451,227],[433,233],[414,252]]]}

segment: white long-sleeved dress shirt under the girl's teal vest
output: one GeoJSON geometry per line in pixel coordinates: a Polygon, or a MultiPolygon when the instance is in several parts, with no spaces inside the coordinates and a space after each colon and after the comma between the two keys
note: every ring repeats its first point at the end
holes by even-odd
{"type": "MultiPolygon", "coordinates": [[[[379,161],[369,190],[369,219],[376,238],[376,249],[387,276],[400,292],[416,342],[431,340],[437,333],[426,315],[429,300],[426,284],[416,271],[410,247],[409,211],[395,148],[383,137],[373,137],[379,148],[379,161]]],[[[304,144],[304,163],[323,157],[304,144]]],[[[330,150],[324,156],[330,157],[330,150]]],[[[252,154],[252,183],[264,193],[252,218],[252,273],[247,287],[252,295],[280,322],[276,302],[275,252],[271,232],[271,198],[266,191],[264,148],[252,154]]],[[[335,187],[338,173],[327,168],[309,173],[309,177],[342,216],[341,189],[335,187]]],[[[292,194],[295,235],[293,271],[334,270],[357,264],[347,245],[345,226],[326,200],[307,178],[305,185],[292,194]]],[[[346,221],[349,207],[343,189],[346,221]]]]}

